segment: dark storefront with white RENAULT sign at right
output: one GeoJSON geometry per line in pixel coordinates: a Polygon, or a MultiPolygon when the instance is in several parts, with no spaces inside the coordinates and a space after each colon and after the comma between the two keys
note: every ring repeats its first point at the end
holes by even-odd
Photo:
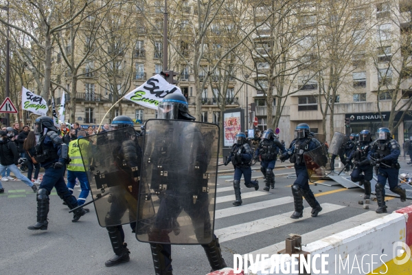
{"type": "MultiPolygon", "coordinates": [[[[402,117],[403,111],[398,112],[395,117],[394,124],[398,123],[402,117]]],[[[369,130],[374,136],[374,133],[380,127],[389,126],[389,116],[390,112],[381,112],[379,113],[346,113],[345,118],[350,118],[350,127],[352,133],[359,133],[362,130],[369,130]],[[382,123],[383,120],[383,123],[382,123]]],[[[393,133],[395,140],[403,143],[404,138],[409,138],[412,135],[412,111],[407,111],[403,118],[403,123],[398,127],[398,131],[393,133]],[[402,134],[403,132],[403,134],[402,134]],[[402,135],[402,138],[399,140],[399,134],[402,135]]]]}

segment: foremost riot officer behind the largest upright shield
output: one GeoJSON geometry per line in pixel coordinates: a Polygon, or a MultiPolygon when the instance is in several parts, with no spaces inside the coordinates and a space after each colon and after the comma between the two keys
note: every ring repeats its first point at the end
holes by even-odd
{"type": "MultiPolygon", "coordinates": [[[[173,93],[168,94],[163,98],[163,102],[159,103],[159,111],[157,118],[166,119],[166,120],[188,120],[194,121],[195,118],[189,113],[189,105],[183,94],[173,93]]],[[[183,127],[182,129],[173,129],[174,135],[181,136],[182,140],[193,140],[201,139],[202,135],[197,129],[192,129],[192,126],[183,127]],[[179,133],[176,133],[179,132],[179,133]],[[189,136],[187,136],[189,135],[189,136]]],[[[146,133],[147,135],[147,133],[146,133]]],[[[184,142],[184,141],[183,141],[184,142]]],[[[196,140],[196,142],[202,142],[196,140]]],[[[205,145],[201,145],[204,147],[205,145]]],[[[160,147],[158,146],[159,150],[160,147]]],[[[170,146],[168,146],[170,148],[170,146]]],[[[172,149],[172,148],[170,148],[172,149]]],[[[176,156],[179,158],[178,156],[176,156]]],[[[199,167],[203,169],[205,158],[207,156],[203,155],[201,158],[195,156],[194,162],[200,162],[199,167]]],[[[169,167],[173,167],[176,164],[174,160],[172,164],[170,162],[165,163],[169,167]]],[[[180,166],[179,166],[180,167],[180,166]]],[[[164,168],[165,169],[165,168],[164,168]]],[[[184,169],[187,169],[185,167],[184,169]]],[[[203,172],[205,173],[205,172],[203,172]]],[[[179,173],[174,173],[168,177],[177,177],[181,181],[185,181],[190,178],[190,175],[180,175],[179,173]]],[[[192,186],[196,188],[200,182],[192,183],[192,186]]],[[[161,243],[150,242],[150,249],[152,250],[153,263],[155,265],[155,273],[157,275],[172,275],[172,246],[170,245],[170,240],[168,239],[168,234],[165,230],[162,230],[165,226],[168,226],[168,221],[174,221],[175,217],[179,216],[180,212],[185,210],[185,212],[191,217],[194,228],[197,228],[195,231],[196,238],[205,238],[205,235],[211,233],[211,223],[209,217],[208,208],[203,208],[204,205],[208,206],[208,196],[207,192],[202,192],[202,190],[196,190],[196,197],[193,197],[192,203],[184,203],[179,198],[185,198],[184,201],[192,201],[192,194],[185,190],[183,183],[176,183],[174,186],[171,186],[168,182],[166,190],[160,191],[160,208],[157,214],[157,220],[155,222],[155,228],[152,228],[149,233],[149,241],[152,241],[153,238],[162,239],[161,243]],[[198,224],[198,221],[201,221],[198,224]],[[153,237],[151,237],[153,236],[153,237]]],[[[187,183],[186,183],[187,186],[187,183]]],[[[191,192],[195,192],[192,190],[191,192]]],[[[174,234],[179,234],[179,231],[173,230],[174,234]]],[[[224,267],[227,267],[225,260],[222,258],[222,252],[220,250],[220,244],[218,239],[213,234],[211,237],[212,241],[207,244],[202,244],[203,249],[209,260],[209,264],[212,270],[220,270],[224,267]]]]}

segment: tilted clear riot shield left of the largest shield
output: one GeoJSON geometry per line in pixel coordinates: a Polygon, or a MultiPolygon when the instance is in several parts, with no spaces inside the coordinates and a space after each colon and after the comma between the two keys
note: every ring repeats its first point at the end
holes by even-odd
{"type": "Polygon", "coordinates": [[[82,140],[89,142],[80,153],[100,226],[135,222],[141,165],[135,130],[128,127],[82,140]]]}

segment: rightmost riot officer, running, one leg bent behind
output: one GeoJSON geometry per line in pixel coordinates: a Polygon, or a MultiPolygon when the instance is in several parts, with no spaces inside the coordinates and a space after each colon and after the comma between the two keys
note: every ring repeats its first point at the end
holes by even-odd
{"type": "Polygon", "coordinates": [[[378,168],[378,183],[375,186],[376,201],[378,209],[376,213],[386,213],[385,205],[385,185],[389,182],[389,190],[400,195],[400,201],[407,200],[406,191],[398,185],[398,175],[400,165],[398,157],[400,155],[400,146],[396,140],[391,137],[391,132],[386,127],[381,127],[376,132],[376,140],[367,158],[372,165],[378,168]]]}

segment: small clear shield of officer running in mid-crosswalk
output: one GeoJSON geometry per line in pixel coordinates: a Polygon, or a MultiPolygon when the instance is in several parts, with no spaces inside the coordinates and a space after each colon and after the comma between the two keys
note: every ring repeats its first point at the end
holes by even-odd
{"type": "Polygon", "coordinates": [[[304,160],[310,182],[318,181],[330,174],[330,160],[325,144],[304,153],[304,160]]]}

